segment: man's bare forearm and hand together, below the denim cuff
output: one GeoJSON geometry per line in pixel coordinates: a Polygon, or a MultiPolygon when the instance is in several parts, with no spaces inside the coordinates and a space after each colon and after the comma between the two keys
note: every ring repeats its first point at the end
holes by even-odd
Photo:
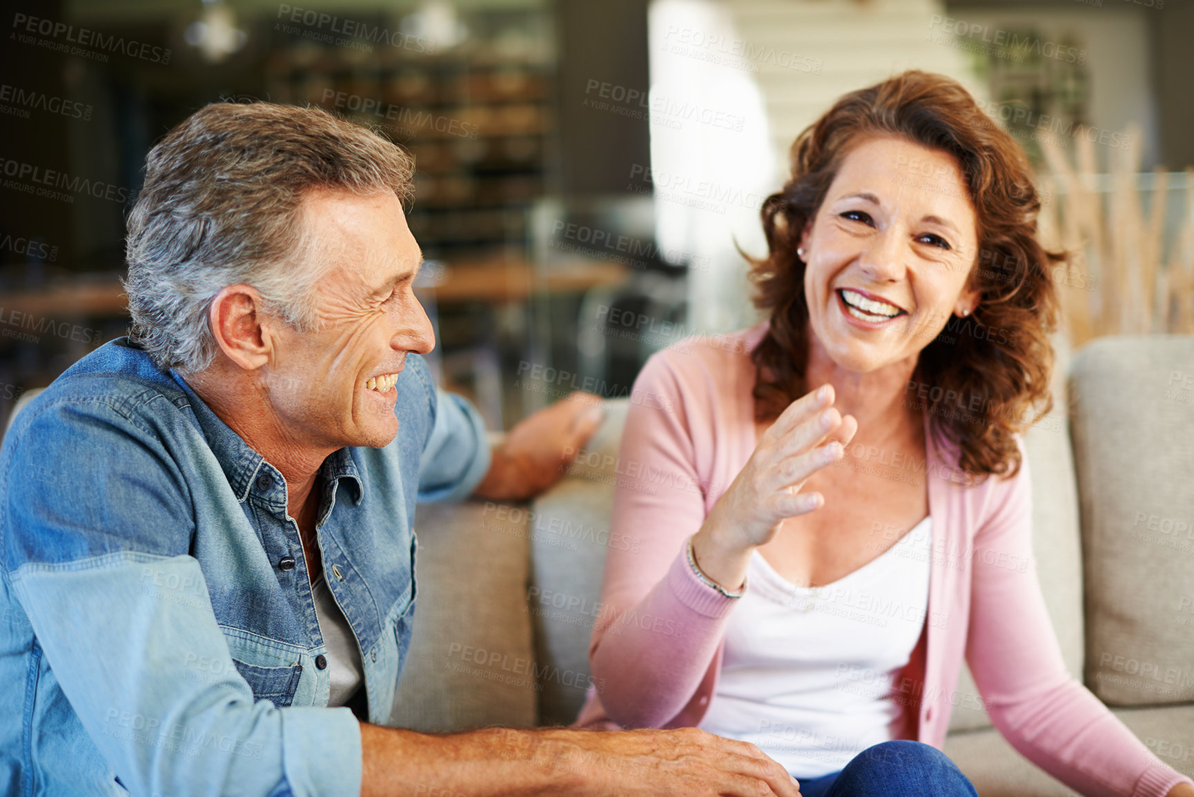
{"type": "Polygon", "coordinates": [[[800,797],[755,745],[678,730],[513,730],[430,736],[361,725],[362,797],[800,797]]]}

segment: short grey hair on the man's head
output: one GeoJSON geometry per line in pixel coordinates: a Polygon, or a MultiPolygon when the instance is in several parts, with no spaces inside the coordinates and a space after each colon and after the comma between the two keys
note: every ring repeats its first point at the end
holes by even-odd
{"type": "Polygon", "coordinates": [[[125,239],[130,336],[159,367],[202,371],[217,348],[211,301],[238,283],[290,327],[315,329],[315,284],[328,266],[306,254],[303,198],[393,191],[407,203],[413,172],[400,147],[318,107],[199,109],[146,159],[125,239]]]}

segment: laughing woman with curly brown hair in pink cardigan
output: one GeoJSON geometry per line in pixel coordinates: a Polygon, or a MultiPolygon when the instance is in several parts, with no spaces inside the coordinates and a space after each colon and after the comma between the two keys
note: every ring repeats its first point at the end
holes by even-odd
{"type": "Polygon", "coordinates": [[[1088,795],[1194,795],[1066,672],[1021,433],[1060,255],[1013,138],[956,82],[843,97],[792,149],[767,322],[653,357],[620,453],[578,724],[756,743],[818,795],[974,793],[936,748],[965,656],[996,727],[1088,795]],[[695,487],[698,486],[698,487],[695,487]],[[687,488],[687,489],[685,489],[687,488]]]}

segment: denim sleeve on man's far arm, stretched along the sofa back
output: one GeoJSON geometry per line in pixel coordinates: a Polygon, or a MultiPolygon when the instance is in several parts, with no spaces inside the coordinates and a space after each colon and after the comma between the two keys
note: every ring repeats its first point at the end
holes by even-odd
{"type": "Polygon", "coordinates": [[[419,502],[467,498],[490,470],[485,421],[468,400],[436,390],[435,425],[419,459],[419,502]]]}

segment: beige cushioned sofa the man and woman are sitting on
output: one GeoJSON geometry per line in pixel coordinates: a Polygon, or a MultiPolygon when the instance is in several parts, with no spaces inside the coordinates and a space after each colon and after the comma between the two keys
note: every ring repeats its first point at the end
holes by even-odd
{"type": "MultiPolygon", "coordinates": [[[[1194,336],[1064,339],[1053,409],[1026,434],[1034,549],[1066,665],[1163,761],[1194,776],[1194,336]]],[[[394,724],[571,723],[592,682],[627,400],[530,503],[423,505],[417,622],[394,724]]],[[[599,686],[599,685],[598,685],[599,686]]],[[[946,752],[983,797],[1071,790],[991,725],[964,671],[946,752]]]]}

